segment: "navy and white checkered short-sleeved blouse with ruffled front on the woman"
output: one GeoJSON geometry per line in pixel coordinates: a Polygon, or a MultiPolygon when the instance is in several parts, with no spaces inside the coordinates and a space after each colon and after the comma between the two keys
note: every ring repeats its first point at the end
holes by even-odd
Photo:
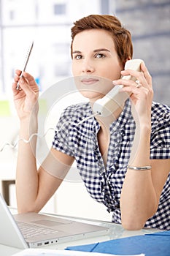
{"type": "MultiPolygon", "coordinates": [[[[135,123],[131,116],[131,104],[126,102],[119,118],[110,125],[107,167],[104,166],[98,148],[97,133],[100,129],[96,118],[90,116],[89,103],[72,105],[61,115],[55,129],[53,148],[73,156],[77,162],[82,181],[90,196],[112,211],[112,222],[121,223],[120,193],[125,178],[131,146],[134,140],[135,123]]],[[[170,158],[170,108],[152,102],[152,135],[150,159],[170,158]]],[[[161,170],[160,170],[161,171],[161,170]]],[[[170,175],[161,194],[156,214],[145,227],[170,229],[170,175]]]]}

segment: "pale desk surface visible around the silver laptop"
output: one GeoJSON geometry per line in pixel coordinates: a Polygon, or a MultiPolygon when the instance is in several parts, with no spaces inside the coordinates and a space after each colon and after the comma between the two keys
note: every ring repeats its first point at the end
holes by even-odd
{"type": "MultiPolygon", "coordinates": [[[[12,214],[16,213],[16,209],[10,208],[10,211],[12,212],[12,214]]],[[[158,232],[158,230],[155,230],[155,229],[142,229],[142,230],[128,231],[128,230],[124,230],[121,225],[117,225],[117,224],[111,223],[111,222],[96,221],[93,219],[81,219],[81,218],[77,218],[77,217],[68,217],[68,216],[63,216],[63,215],[61,216],[61,215],[55,215],[55,214],[50,214],[50,215],[52,215],[53,217],[54,216],[66,217],[66,219],[72,219],[72,220],[77,220],[80,222],[86,222],[86,223],[90,223],[90,224],[108,227],[109,233],[105,236],[83,238],[80,240],[70,241],[70,242],[66,242],[66,243],[45,246],[44,248],[46,248],[46,249],[65,249],[67,246],[76,246],[76,245],[81,245],[81,244],[93,244],[96,242],[108,241],[111,239],[123,238],[123,237],[128,237],[128,236],[138,236],[138,235],[144,235],[146,233],[158,232]]],[[[20,251],[21,250],[18,248],[4,246],[4,245],[0,244],[1,255],[11,256],[20,251]]]]}

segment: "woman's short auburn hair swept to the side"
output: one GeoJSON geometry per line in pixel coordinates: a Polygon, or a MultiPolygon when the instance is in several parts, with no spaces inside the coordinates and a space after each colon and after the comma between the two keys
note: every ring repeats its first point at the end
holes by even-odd
{"type": "Polygon", "coordinates": [[[115,50],[117,51],[117,56],[119,57],[121,64],[123,64],[123,67],[125,65],[125,61],[132,59],[133,45],[131,41],[131,33],[127,29],[123,28],[120,20],[113,15],[89,15],[75,21],[74,26],[71,29],[71,55],[74,37],[78,33],[89,29],[104,29],[109,31],[115,42],[115,50]]]}

